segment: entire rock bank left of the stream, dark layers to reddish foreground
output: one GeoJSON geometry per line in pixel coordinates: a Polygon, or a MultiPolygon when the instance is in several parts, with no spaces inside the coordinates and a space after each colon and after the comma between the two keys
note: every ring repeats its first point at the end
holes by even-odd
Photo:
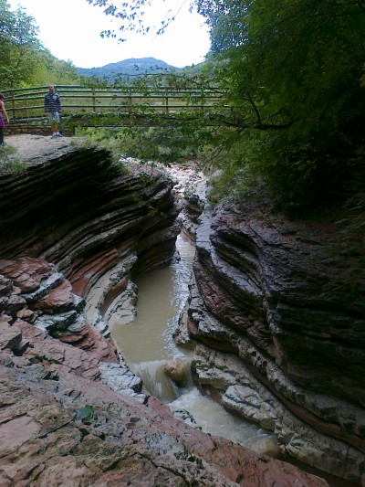
{"type": "Polygon", "coordinates": [[[172,258],[172,183],[67,139],[8,142],[27,170],[0,177],[1,485],[326,485],[173,418],[112,346],[103,304],[172,258]]]}

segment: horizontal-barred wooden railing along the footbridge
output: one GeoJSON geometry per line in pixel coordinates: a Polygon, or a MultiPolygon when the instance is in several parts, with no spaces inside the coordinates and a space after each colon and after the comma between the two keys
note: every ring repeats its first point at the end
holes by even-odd
{"type": "MultiPolygon", "coordinates": [[[[63,115],[87,112],[213,110],[222,104],[219,90],[179,89],[177,87],[123,87],[94,89],[82,86],[57,86],[63,115]]],[[[46,86],[5,90],[5,107],[13,120],[30,120],[44,116],[46,86]]],[[[222,108],[222,106],[221,106],[222,108]]]]}

